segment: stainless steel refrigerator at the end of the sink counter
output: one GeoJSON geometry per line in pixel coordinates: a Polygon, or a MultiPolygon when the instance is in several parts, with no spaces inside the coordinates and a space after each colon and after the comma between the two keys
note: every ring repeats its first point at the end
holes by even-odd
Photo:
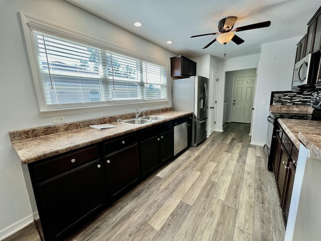
{"type": "Polygon", "coordinates": [[[192,76],[173,80],[173,110],[193,111],[192,143],[196,147],[206,138],[209,79],[192,76]]]}

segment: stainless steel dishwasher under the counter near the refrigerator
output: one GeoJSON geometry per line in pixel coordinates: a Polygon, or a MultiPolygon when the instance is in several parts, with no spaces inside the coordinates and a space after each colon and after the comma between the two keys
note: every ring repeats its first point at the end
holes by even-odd
{"type": "Polygon", "coordinates": [[[174,121],[174,156],[187,148],[187,116],[174,121]]]}

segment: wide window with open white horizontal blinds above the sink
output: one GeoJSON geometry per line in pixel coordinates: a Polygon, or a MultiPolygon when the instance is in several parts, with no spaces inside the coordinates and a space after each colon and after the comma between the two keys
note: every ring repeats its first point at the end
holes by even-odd
{"type": "Polygon", "coordinates": [[[34,82],[41,113],[167,100],[167,63],[80,33],[70,31],[70,36],[59,26],[52,31],[50,24],[24,14],[22,19],[30,27],[24,31],[32,65],[37,66],[34,82]]]}

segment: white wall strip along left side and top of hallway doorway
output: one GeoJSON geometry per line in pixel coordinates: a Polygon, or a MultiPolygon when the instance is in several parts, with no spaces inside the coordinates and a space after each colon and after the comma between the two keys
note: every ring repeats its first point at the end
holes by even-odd
{"type": "MultiPolygon", "coordinates": [[[[240,46],[241,47],[241,46],[240,46]]],[[[260,54],[221,60],[219,62],[219,84],[217,101],[216,130],[223,131],[223,107],[225,90],[225,72],[241,69],[258,68],[260,54]]]]}

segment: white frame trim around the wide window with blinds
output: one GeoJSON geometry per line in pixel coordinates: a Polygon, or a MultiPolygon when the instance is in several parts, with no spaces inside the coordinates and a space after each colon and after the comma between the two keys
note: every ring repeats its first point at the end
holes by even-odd
{"type": "MultiPolygon", "coordinates": [[[[139,102],[119,102],[119,103],[105,103],[94,106],[82,106],[82,107],[70,107],[70,108],[57,108],[57,109],[48,109],[46,103],[46,96],[44,93],[44,88],[42,84],[42,77],[39,68],[39,61],[37,56],[36,46],[34,44],[33,31],[38,31],[42,33],[47,33],[50,35],[54,35],[57,37],[61,37],[63,39],[72,40],[75,42],[79,42],[82,44],[90,45],[92,47],[100,48],[100,49],[108,49],[108,51],[119,53],[122,55],[126,55],[128,57],[133,57],[136,59],[141,59],[149,63],[157,64],[166,68],[168,72],[168,63],[159,61],[152,57],[143,55],[138,52],[134,52],[129,49],[125,49],[123,47],[111,44],[104,40],[44,21],[42,19],[24,14],[20,12],[23,31],[25,35],[25,41],[27,45],[27,51],[30,59],[30,66],[32,71],[32,76],[34,80],[37,100],[40,108],[40,115],[42,117],[45,116],[54,116],[54,115],[62,115],[62,114],[73,114],[73,113],[84,113],[84,112],[92,112],[92,111],[101,111],[106,109],[119,109],[120,107],[131,107],[131,106],[139,106],[139,105],[158,105],[158,104],[168,104],[168,80],[166,85],[166,100],[141,100],[139,102]]],[[[168,76],[167,76],[168,78],[168,76]]]]}

